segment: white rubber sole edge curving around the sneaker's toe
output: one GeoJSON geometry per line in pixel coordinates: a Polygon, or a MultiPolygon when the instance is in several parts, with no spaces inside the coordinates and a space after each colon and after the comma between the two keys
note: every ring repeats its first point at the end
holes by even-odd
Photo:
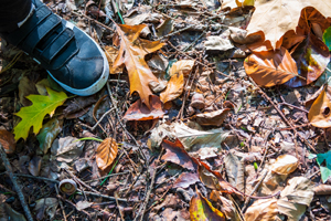
{"type": "MultiPolygon", "coordinates": [[[[70,23],[68,21],[66,21],[66,27],[70,28],[70,29],[78,29],[77,27],[75,27],[73,23],[70,23]]],[[[79,30],[82,31],[82,30],[79,30]]],[[[82,31],[83,32],[83,31],[82,31]]],[[[109,64],[108,64],[108,60],[106,57],[106,54],[104,53],[104,51],[102,50],[102,48],[88,35],[86,34],[94,43],[95,45],[97,46],[97,49],[102,52],[102,55],[103,55],[103,59],[104,59],[104,72],[102,74],[102,76],[93,84],[90,85],[89,87],[86,87],[84,90],[77,90],[77,88],[73,88],[66,84],[63,84],[61,82],[58,82],[49,71],[49,74],[50,76],[57,83],[60,84],[65,91],[72,93],[72,94],[76,94],[78,96],[89,96],[89,95],[93,95],[97,92],[99,92],[104,86],[105,84],[107,83],[108,81],[108,77],[109,77],[109,64]]]]}

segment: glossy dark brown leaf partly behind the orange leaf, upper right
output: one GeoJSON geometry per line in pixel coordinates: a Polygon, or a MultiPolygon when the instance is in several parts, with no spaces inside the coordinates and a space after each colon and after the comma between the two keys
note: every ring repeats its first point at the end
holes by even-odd
{"type": "Polygon", "coordinates": [[[330,61],[328,46],[316,35],[309,33],[291,53],[297,63],[298,74],[285,85],[299,87],[314,82],[325,70],[330,61]]]}

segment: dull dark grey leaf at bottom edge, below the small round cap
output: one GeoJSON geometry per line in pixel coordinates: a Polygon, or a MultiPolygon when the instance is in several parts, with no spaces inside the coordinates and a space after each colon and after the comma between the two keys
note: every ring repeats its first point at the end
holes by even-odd
{"type": "Polygon", "coordinates": [[[46,213],[46,220],[52,220],[55,215],[58,201],[56,198],[42,198],[35,201],[35,212],[38,220],[44,220],[44,213],[46,213]]]}

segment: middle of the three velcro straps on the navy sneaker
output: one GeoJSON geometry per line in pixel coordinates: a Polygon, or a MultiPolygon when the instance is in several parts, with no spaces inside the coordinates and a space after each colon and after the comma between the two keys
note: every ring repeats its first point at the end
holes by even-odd
{"type": "Polygon", "coordinates": [[[30,54],[36,44],[60,23],[61,19],[55,14],[51,14],[26,36],[23,43],[24,51],[30,54]]]}

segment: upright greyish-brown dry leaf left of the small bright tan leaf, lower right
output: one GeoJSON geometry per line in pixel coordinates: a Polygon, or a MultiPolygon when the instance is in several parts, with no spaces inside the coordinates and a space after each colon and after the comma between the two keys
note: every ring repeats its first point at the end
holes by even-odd
{"type": "Polygon", "coordinates": [[[224,164],[228,182],[242,192],[245,191],[244,164],[231,151],[224,157],[224,164]]]}

